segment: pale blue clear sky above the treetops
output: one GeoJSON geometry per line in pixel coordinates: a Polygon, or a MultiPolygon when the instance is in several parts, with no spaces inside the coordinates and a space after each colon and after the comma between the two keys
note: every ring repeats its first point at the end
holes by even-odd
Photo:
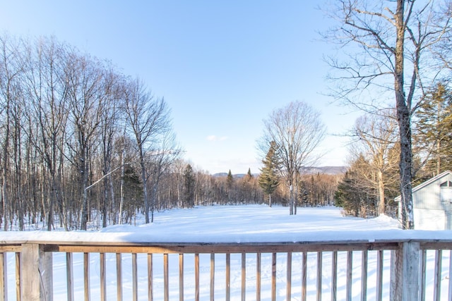
{"type": "Polygon", "coordinates": [[[54,35],[138,76],[165,97],[184,158],[210,173],[258,173],[256,140],[273,109],[303,101],[328,136],[319,165],[346,164],[355,121],[324,96],[331,82],[318,1],[3,1],[0,31],[54,35]]]}

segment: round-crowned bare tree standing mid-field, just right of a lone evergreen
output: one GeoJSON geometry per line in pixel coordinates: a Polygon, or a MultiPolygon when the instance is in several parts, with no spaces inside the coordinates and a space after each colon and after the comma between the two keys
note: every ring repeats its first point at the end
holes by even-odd
{"type": "Polygon", "coordinates": [[[320,113],[304,102],[291,102],[282,109],[275,109],[263,121],[261,141],[265,151],[272,141],[280,159],[285,182],[290,188],[290,214],[297,214],[294,190],[302,168],[312,166],[321,154],[315,150],[323,140],[326,130],[320,113]]]}

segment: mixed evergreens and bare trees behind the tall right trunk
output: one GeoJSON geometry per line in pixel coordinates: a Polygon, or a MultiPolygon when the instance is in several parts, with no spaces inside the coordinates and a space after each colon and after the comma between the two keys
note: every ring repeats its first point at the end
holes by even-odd
{"type": "MultiPolygon", "coordinates": [[[[354,216],[397,216],[400,144],[394,110],[357,119],[350,135],[350,168],[335,204],[354,216]]],[[[452,170],[452,92],[447,82],[430,89],[413,118],[413,185],[452,170]]]]}

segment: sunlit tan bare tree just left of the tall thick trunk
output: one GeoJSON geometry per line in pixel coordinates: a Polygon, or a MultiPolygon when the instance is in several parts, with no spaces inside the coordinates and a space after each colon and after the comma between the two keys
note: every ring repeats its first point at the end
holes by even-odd
{"type": "Polygon", "coordinates": [[[364,154],[369,156],[372,173],[371,178],[367,180],[375,183],[377,188],[378,214],[385,214],[385,187],[386,183],[392,180],[386,176],[398,162],[393,152],[397,144],[397,122],[392,114],[364,115],[357,119],[352,132],[362,144],[364,154]]]}

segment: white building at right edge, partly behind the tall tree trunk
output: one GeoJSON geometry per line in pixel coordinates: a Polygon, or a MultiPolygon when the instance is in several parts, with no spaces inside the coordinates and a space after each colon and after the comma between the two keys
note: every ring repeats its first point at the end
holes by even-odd
{"type": "MultiPolygon", "coordinates": [[[[400,200],[400,196],[395,199],[402,220],[400,200]]],[[[452,230],[452,172],[444,171],[413,188],[412,203],[416,230],[452,230]]]]}

